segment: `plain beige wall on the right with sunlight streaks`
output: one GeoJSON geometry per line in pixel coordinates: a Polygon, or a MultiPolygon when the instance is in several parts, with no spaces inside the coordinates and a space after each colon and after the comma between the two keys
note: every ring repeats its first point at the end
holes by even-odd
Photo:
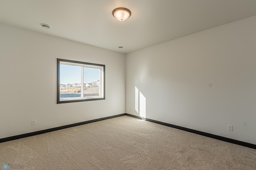
{"type": "Polygon", "coordinates": [[[126,113],[256,144],[255,30],[256,16],[127,54],[126,113]]]}

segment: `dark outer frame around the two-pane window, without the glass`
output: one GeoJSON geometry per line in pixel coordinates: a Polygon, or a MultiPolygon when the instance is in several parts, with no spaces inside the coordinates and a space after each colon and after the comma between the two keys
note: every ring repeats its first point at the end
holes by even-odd
{"type": "MultiPolygon", "coordinates": [[[[105,100],[105,75],[106,75],[106,73],[105,73],[105,65],[104,64],[95,64],[95,63],[86,63],[86,62],[66,60],[66,59],[57,59],[57,104],[85,102],[85,101],[93,101],[93,100],[105,100]],[[102,70],[103,87],[100,87],[103,90],[103,93],[102,93],[103,97],[101,97],[101,98],[82,98],[82,99],[73,99],[73,100],[60,100],[60,62],[103,67],[103,70],[102,70]]],[[[83,86],[82,86],[83,83],[84,82],[81,82],[81,88],[83,88],[83,86]]]]}

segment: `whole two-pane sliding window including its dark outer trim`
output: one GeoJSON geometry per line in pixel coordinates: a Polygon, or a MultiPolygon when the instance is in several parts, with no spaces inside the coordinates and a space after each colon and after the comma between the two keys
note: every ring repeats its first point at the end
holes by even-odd
{"type": "Polygon", "coordinates": [[[105,99],[105,65],[57,59],[57,104],[105,99]]]}

